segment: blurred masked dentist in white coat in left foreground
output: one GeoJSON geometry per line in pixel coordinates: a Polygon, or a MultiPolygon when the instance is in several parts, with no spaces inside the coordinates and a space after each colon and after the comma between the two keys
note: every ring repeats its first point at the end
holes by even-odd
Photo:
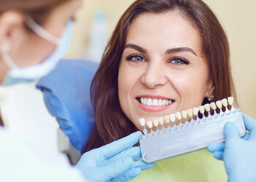
{"type": "MultiPolygon", "coordinates": [[[[68,50],[72,19],[81,4],[81,0],[1,1],[0,101],[2,88],[36,82],[55,68],[68,50]]],[[[72,167],[67,157],[40,145],[43,141],[13,131],[5,111],[0,105],[0,181],[128,181],[153,166],[135,160],[141,157],[140,147],[132,147],[141,135],[135,132],[83,154],[72,167]]],[[[22,125],[17,121],[16,130],[22,125]]]]}

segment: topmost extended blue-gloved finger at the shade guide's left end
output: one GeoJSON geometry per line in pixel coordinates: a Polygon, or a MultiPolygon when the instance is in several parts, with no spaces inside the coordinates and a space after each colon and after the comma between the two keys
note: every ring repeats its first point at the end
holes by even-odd
{"type": "Polygon", "coordinates": [[[142,132],[133,132],[127,137],[121,138],[118,141],[113,141],[108,145],[100,147],[99,150],[102,151],[102,154],[105,156],[105,158],[108,159],[138,143],[141,135],[142,132]]]}

